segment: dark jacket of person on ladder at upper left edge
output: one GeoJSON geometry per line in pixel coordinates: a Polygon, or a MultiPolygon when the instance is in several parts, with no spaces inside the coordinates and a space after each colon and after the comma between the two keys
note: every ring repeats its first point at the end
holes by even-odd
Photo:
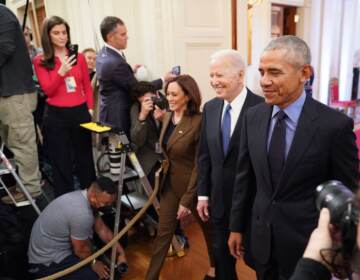
{"type": "Polygon", "coordinates": [[[0,4],[0,96],[35,92],[33,71],[16,16],[0,4]]]}

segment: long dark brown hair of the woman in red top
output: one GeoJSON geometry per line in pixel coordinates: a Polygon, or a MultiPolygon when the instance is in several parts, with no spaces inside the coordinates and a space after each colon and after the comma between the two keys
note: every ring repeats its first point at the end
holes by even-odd
{"type": "Polygon", "coordinates": [[[50,31],[55,25],[64,24],[66,32],[68,35],[68,41],[66,42],[66,47],[69,47],[71,44],[70,39],[70,27],[69,24],[58,16],[52,16],[47,18],[43,22],[43,27],[41,31],[41,45],[43,48],[43,59],[41,60],[41,65],[48,69],[54,69],[55,66],[55,52],[54,46],[51,42],[50,31]]]}

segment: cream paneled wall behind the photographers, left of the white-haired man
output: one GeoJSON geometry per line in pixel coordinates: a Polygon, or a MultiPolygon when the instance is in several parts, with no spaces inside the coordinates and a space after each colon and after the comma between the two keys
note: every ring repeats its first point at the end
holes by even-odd
{"type": "Polygon", "coordinates": [[[209,56],[231,46],[230,0],[45,0],[47,15],[59,15],[71,27],[80,49],[102,46],[103,17],[118,16],[128,28],[127,60],[147,66],[158,78],[174,65],[197,80],[204,101],[209,86],[209,56]],[[201,15],[201,16],[199,16],[201,15]]]}

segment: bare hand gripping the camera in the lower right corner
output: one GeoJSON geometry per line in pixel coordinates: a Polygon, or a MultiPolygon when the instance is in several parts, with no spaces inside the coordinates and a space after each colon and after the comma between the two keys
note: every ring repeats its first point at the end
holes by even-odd
{"type": "Polygon", "coordinates": [[[330,212],[327,208],[321,209],[318,226],[312,232],[310,240],[304,252],[304,258],[310,258],[323,262],[320,255],[322,249],[332,247],[332,238],[330,233],[330,212]]]}

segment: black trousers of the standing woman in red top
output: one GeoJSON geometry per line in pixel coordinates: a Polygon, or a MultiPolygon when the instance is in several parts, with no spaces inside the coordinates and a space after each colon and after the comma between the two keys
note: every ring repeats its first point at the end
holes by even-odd
{"type": "Polygon", "coordinates": [[[74,167],[81,188],[89,187],[95,180],[91,132],[80,127],[89,121],[86,104],[69,108],[47,106],[44,145],[53,168],[56,197],[74,190],[74,167]]]}

